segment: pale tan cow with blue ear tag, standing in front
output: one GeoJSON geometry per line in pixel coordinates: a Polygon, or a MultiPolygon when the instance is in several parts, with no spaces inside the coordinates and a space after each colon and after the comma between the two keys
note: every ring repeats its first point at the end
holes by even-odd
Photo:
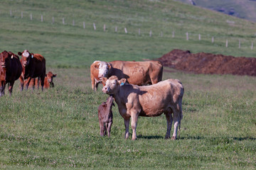
{"type": "Polygon", "coordinates": [[[174,120],[174,134],[171,140],[176,140],[178,124],[181,123],[183,117],[181,102],[184,89],[181,81],[167,79],[151,86],[126,84],[126,79],[118,80],[116,76],[110,79],[102,78],[102,81],[106,83],[102,89],[103,93],[113,95],[119,113],[124,118],[126,139],[129,136],[130,118],[132,118],[132,140],[136,140],[139,116],[154,117],[164,113],[167,120],[166,139],[170,138],[171,125],[174,120]]]}

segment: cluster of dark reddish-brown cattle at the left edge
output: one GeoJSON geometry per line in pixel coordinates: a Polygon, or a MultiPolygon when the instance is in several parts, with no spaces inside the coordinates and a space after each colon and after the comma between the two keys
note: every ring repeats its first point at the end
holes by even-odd
{"type": "Polygon", "coordinates": [[[18,78],[21,81],[21,91],[24,84],[26,89],[28,86],[32,86],[33,89],[38,86],[39,89],[39,81],[42,91],[43,88],[54,86],[53,77],[56,77],[56,74],[46,74],[46,59],[42,55],[33,54],[28,50],[18,52],[18,55],[7,51],[0,53],[0,96],[4,96],[6,84],[9,84],[11,94],[14,81],[18,78]],[[21,56],[21,60],[18,55],[21,56]]]}

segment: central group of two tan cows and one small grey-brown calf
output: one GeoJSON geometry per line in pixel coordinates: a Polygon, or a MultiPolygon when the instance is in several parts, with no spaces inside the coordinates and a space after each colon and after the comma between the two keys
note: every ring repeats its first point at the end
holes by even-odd
{"type": "Polygon", "coordinates": [[[171,125],[174,121],[171,140],[176,140],[183,118],[181,103],[184,88],[178,79],[161,81],[162,74],[163,66],[157,61],[93,62],[90,66],[92,89],[96,91],[98,84],[102,83],[102,92],[110,95],[107,102],[103,102],[98,108],[100,135],[108,133],[110,137],[114,98],[119,113],[124,118],[126,139],[129,137],[130,118],[132,140],[136,140],[139,116],[155,117],[164,113],[167,120],[166,139],[171,137],[171,125]]]}

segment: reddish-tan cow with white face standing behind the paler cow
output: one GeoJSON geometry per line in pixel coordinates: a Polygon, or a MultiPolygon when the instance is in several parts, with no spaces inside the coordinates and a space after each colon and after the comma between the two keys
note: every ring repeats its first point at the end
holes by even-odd
{"type": "MultiPolygon", "coordinates": [[[[147,62],[102,62],[95,61],[90,67],[92,89],[97,90],[102,83],[102,77],[117,76],[118,79],[127,79],[129,84],[146,85],[156,84],[162,79],[163,65],[158,61],[147,62]]],[[[103,84],[105,86],[105,84],[103,84]]]]}

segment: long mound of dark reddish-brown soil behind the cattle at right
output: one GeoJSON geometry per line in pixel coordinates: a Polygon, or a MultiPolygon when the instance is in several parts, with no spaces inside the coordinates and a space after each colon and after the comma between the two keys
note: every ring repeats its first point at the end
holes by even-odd
{"type": "Polygon", "coordinates": [[[256,76],[256,58],[213,55],[172,50],[158,59],[164,66],[197,74],[236,74],[256,76]]]}

